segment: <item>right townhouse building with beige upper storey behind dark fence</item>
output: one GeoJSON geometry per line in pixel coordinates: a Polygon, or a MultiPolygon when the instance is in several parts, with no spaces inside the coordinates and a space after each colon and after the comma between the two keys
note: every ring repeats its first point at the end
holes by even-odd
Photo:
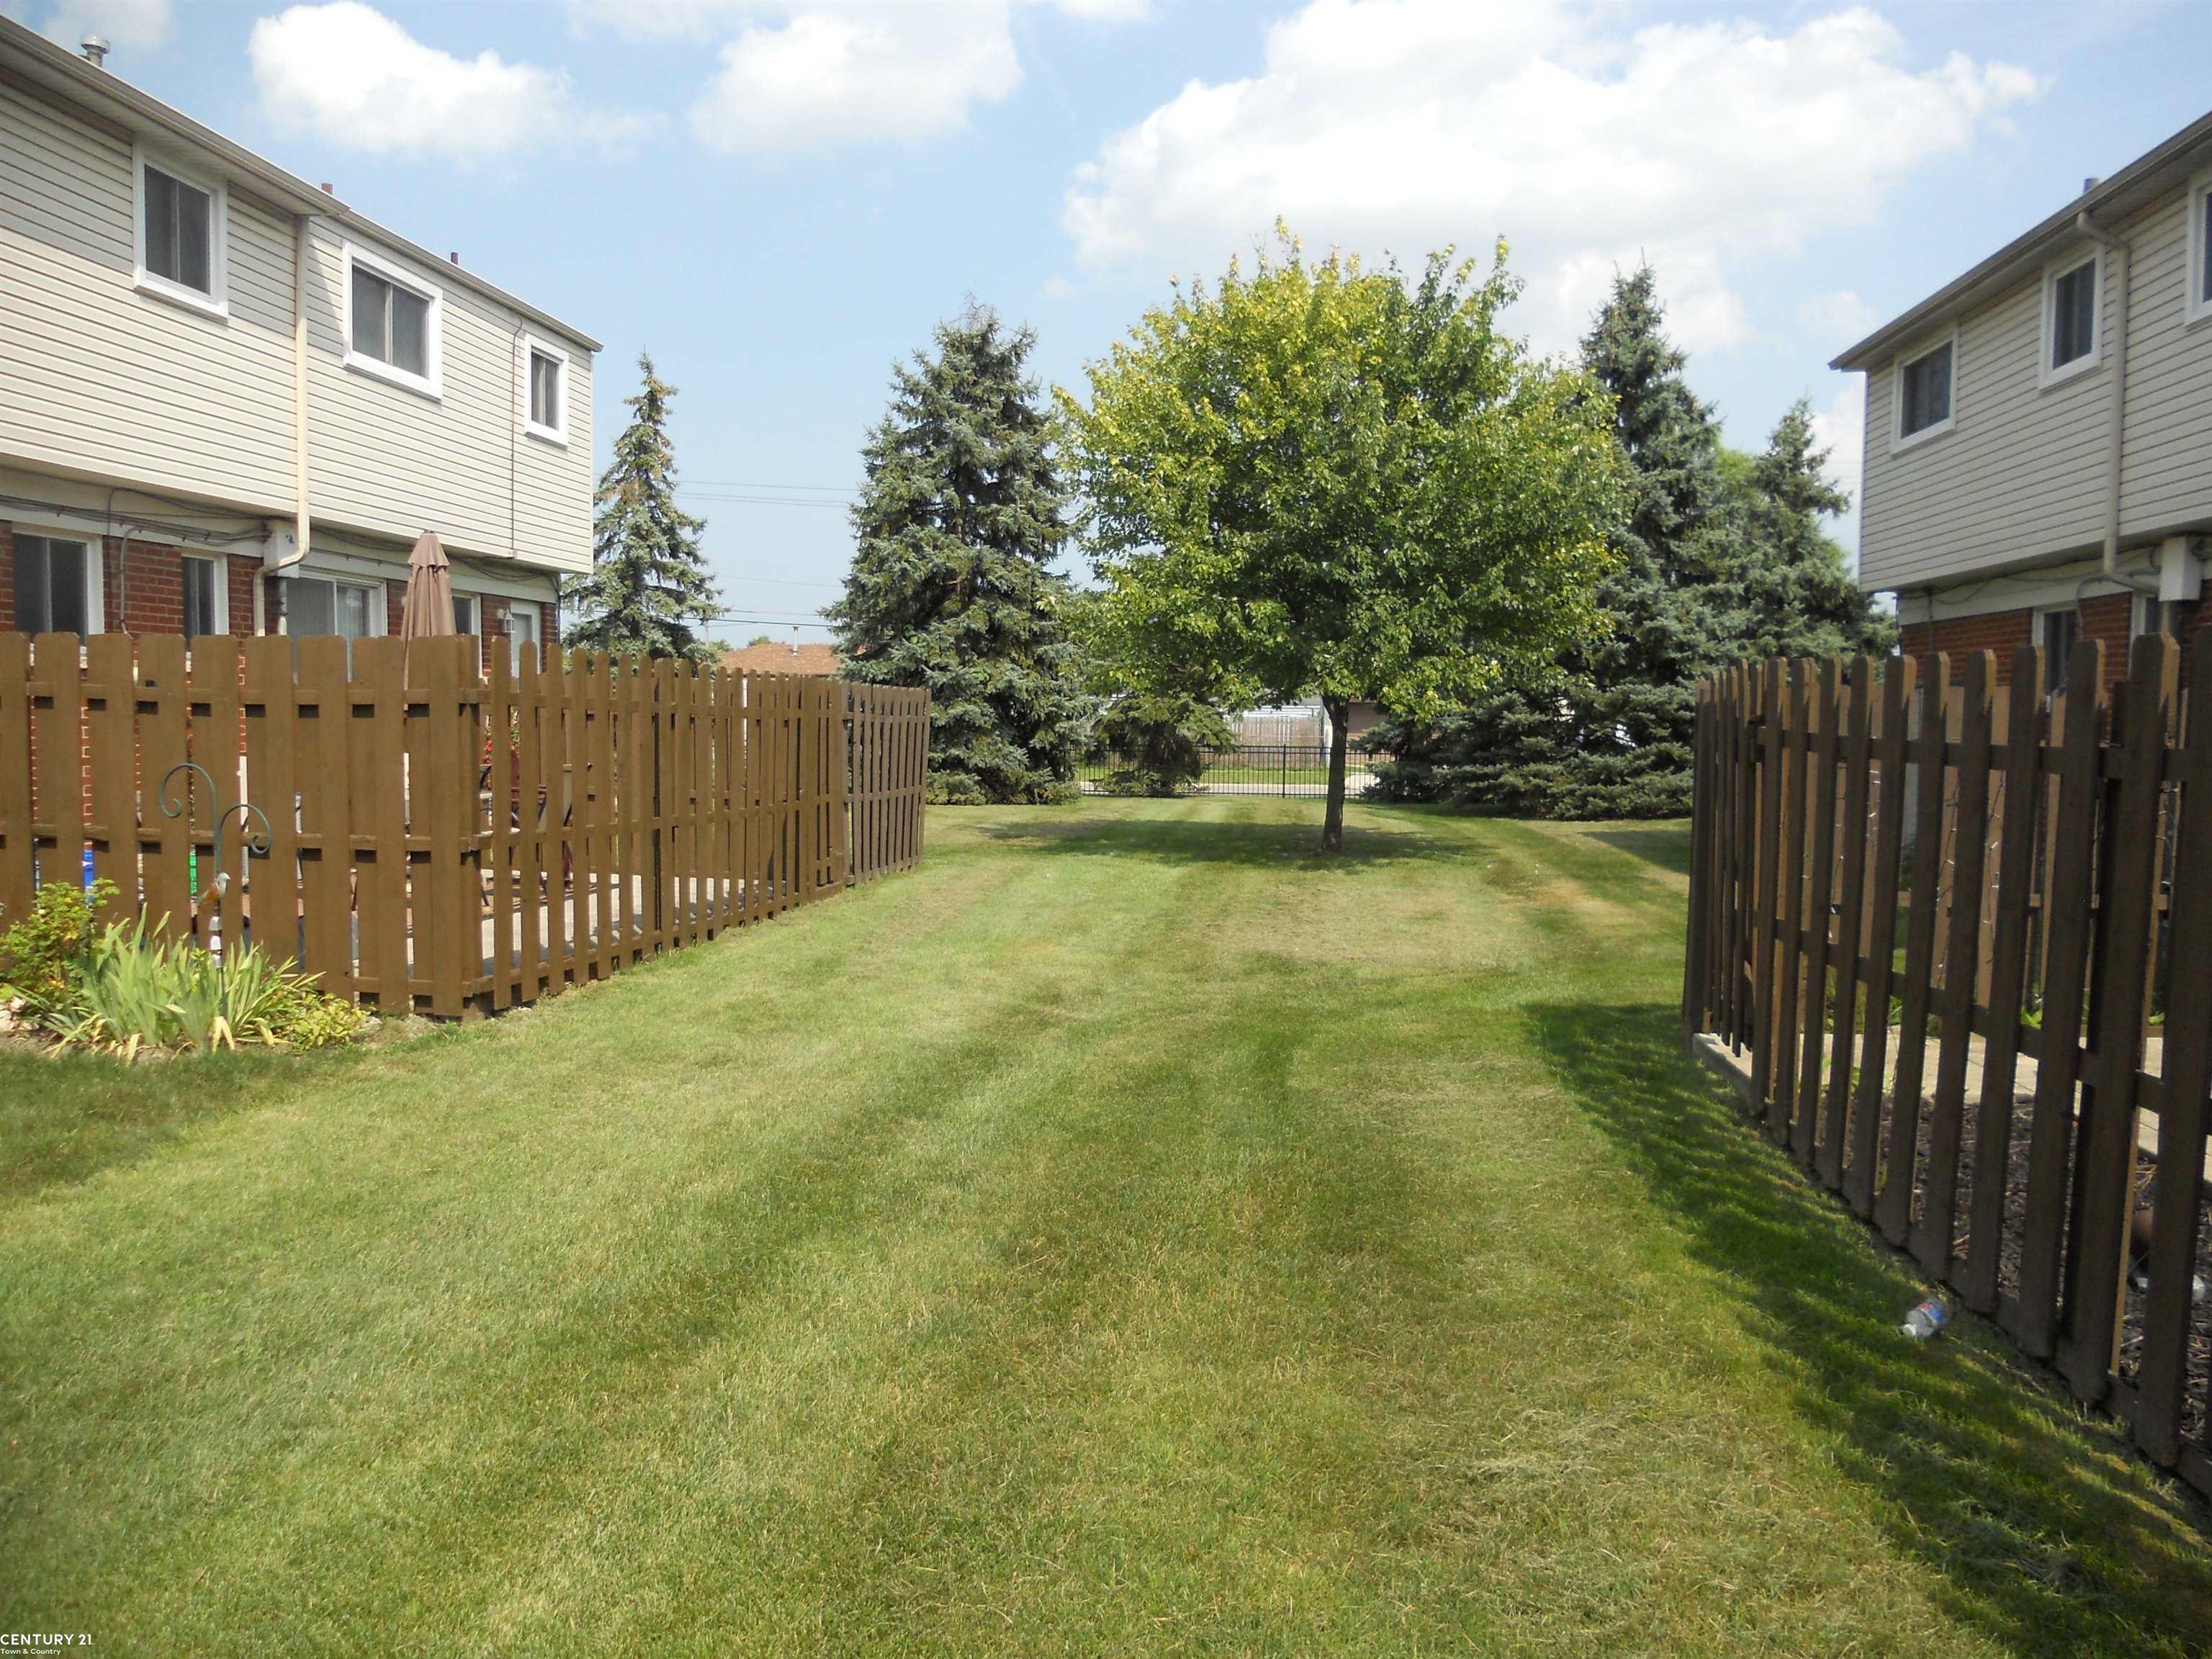
{"type": "Polygon", "coordinates": [[[1860,584],[1922,666],[2097,637],[2117,679],[2212,626],[2212,115],[1832,367],[1867,376],[1860,584]]]}

